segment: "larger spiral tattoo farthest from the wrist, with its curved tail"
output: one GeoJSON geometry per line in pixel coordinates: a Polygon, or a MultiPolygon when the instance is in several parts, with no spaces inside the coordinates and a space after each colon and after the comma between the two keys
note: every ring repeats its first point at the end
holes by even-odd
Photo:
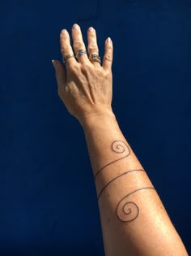
{"type": "MultiPolygon", "coordinates": [[[[146,187],[142,189],[154,189],[153,187],[146,187]]],[[[127,197],[132,193],[136,193],[142,189],[136,189],[134,192],[129,193],[127,196],[123,197],[117,204],[117,217],[122,222],[130,222],[138,218],[139,208],[134,202],[126,202],[127,197]]]]}

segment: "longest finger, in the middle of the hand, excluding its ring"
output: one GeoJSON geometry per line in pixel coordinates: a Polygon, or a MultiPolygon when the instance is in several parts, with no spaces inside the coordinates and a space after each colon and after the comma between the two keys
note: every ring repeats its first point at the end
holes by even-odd
{"type": "MultiPolygon", "coordinates": [[[[75,54],[77,54],[78,50],[86,50],[86,46],[84,45],[84,42],[83,42],[83,35],[81,33],[81,29],[78,24],[74,24],[72,27],[72,37],[74,41],[73,46],[74,46],[75,54]]],[[[78,59],[78,62],[79,63],[89,62],[87,54],[83,54],[82,56],[80,56],[78,59]]]]}

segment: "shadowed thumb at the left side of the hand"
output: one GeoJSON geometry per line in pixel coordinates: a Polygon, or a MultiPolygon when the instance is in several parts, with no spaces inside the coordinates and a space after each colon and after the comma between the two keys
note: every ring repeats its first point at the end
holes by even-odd
{"type": "Polygon", "coordinates": [[[58,87],[62,88],[62,86],[66,84],[65,68],[58,60],[53,59],[52,63],[56,72],[57,85],[58,87]]]}

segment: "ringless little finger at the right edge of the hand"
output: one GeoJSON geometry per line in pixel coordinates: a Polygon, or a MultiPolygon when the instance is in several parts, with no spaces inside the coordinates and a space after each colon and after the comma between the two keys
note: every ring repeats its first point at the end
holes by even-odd
{"type": "Polygon", "coordinates": [[[105,41],[105,51],[104,51],[104,60],[103,60],[103,68],[105,71],[109,71],[112,69],[112,55],[113,55],[113,46],[112,40],[108,37],[105,41]]]}

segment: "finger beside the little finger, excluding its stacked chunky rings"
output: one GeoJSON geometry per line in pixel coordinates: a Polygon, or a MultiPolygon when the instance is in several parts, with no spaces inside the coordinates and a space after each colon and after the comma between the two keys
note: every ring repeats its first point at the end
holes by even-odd
{"type": "MultiPolygon", "coordinates": [[[[98,54],[99,55],[99,49],[97,46],[97,37],[96,37],[96,30],[92,27],[90,27],[87,30],[87,41],[88,41],[88,54],[98,54]]],[[[100,66],[100,63],[96,61],[91,61],[92,64],[100,66]]]]}

